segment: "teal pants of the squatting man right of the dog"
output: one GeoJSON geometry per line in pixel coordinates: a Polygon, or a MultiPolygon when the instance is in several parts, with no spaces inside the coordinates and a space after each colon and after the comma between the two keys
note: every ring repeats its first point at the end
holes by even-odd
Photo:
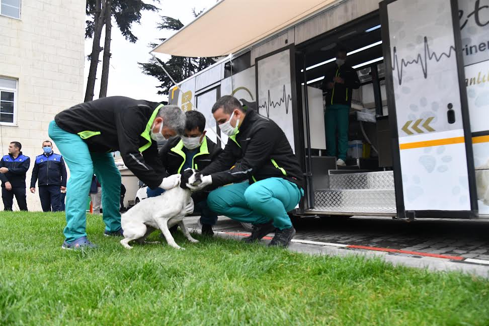
{"type": "Polygon", "coordinates": [[[248,181],[212,191],[207,205],[218,215],[239,222],[268,223],[281,230],[292,227],[287,212],[293,210],[304,192],[282,178],[269,178],[252,185],[248,181]]]}

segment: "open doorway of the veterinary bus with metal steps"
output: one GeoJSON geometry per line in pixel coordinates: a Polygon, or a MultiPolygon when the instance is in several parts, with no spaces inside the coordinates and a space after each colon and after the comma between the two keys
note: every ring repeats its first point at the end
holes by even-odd
{"type": "MultiPolygon", "coordinates": [[[[304,212],[395,216],[385,66],[378,12],[324,33],[306,44],[298,45],[297,49],[298,105],[302,108],[299,112],[303,115],[306,147],[303,165],[308,175],[304,212]],[[356,89],[348,90],[336,85],[331,88],[331,84],[328,85],[336,84],[332,79],[335,72],[341,75],[336,61],[340,49],[346,50],[344,65],[358,76],[356,89]],[[325,80],[325,76],[328,80],[325,80]],[[334,95],[338,90],[342,92],[341,97],[334,95]],[[332,106],[337,102],[348,107],[343,120],[328,112],[337,110],[332,106]],[[335,117],[337,121],[331,121],[335,117]],[[340,134],[342,126],[339,124],[348,125],[346,143],[340,134]],[[328,150],[327,144],[332,143],[336,145],[336,151],[328,150]],[[341,157],[345,163],[343,165],[338,158],[344,155],[339,149],[344,152],[345,146],[346,157],[341,157]]],[[[354,77],[350,75],[343,79],[346,78],[354,77]]],[[[343,82],[347,86],[352,84],[352,80],[343,82]]],[[[340,110],[345,110],[345,107],[340,110]]]]}

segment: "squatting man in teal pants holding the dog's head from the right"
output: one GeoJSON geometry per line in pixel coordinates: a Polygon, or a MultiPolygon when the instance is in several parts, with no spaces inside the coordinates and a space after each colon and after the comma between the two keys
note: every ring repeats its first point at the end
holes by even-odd
{"type": "Polygon", "coordinates": [[[287,247],[295,234],[287,212],[304,192],[302,171],[284,132],[232,96],[220,98],[212,114],[229,140],[217,159],[201,171],[202,184],[190,188],[228,185],[209,194],[209,208],[252,223],[252,234],[243,240],[260,240],[275,231],[270,246],[287,247]]]}

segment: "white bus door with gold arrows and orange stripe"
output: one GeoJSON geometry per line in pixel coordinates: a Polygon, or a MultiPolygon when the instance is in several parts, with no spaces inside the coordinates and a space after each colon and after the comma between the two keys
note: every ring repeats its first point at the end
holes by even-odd
{"type": "Polygon", "coordinates": [[[398,217],[477,216],[456,0],[380,3],[398,217]]]}

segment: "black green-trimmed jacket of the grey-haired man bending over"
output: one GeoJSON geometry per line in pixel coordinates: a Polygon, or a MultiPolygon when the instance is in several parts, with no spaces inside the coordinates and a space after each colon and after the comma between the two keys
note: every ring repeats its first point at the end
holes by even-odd
{"type": "Polygon", "coordinates": [[[111,96],[80,103],[58,113],[56,124],[78,134],[91,152],[119,150],[126,167],[151,188],[166,177],[149,131],[161,104],[111,96]]]}

